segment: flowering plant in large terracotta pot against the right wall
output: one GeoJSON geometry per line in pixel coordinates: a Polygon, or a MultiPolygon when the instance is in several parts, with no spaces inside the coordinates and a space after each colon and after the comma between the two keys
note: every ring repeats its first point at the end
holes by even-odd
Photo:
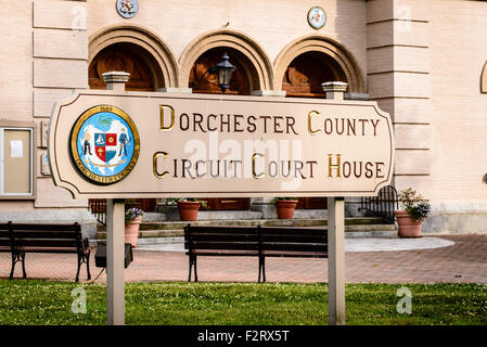
{"type": "Polygon", "coordinates": [[[400,206],[403,207],[403,209],[394,211],[399,228],[399,236],[421,237],[423,220],[431,213],[430,203],[411,188],[399,192],[398,197],[400,206]]]}

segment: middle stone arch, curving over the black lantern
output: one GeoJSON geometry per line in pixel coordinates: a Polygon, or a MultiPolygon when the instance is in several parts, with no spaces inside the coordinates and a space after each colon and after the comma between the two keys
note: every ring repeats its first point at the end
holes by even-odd
{"type": "Polygon", "coordinates": [[[245,64],[253,90],[272,89],[272,64],[264,49],[243,33],[218,29],[195,38],[183,51],[179,60],[179,85],[188,86],[194,62],[214,48],[230,48],[238,51],[247,62],[245,64]]]}

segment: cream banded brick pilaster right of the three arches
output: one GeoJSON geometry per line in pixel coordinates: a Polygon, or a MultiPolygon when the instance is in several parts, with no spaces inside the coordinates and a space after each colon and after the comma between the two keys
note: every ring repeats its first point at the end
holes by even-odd
{"type": "MultiPolygon", "coordinates": [[[[428,196],[433,131],[431,119],[431,23],[434,2],[367,2],[367,86],[370,100],[394,121],[393,185],[428,196]]],[[[447,95],[445,95],[448,99],[447,95]]],[[[448,118],[448,117],[447,117],[448,118]]]]}

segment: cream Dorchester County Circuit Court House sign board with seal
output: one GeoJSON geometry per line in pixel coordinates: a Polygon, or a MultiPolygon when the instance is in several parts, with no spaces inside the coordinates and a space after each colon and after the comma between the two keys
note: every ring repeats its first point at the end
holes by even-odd
{"type": "Polygon", "coordinates": [[[375,102],[82,90],[49,129],[75,197],[363,196],[390,183],[375,102]]]}

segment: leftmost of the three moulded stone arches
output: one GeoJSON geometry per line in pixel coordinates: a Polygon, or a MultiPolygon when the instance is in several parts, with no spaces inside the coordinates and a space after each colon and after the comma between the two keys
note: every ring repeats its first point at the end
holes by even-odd
{"type": "Polygon", "coordinates": [[[131,44],[149,53],[157,88],[178,86],[178,63],[170,48],[154,33],[138,25],[116,25],[103,28],[89,39],[88,63],[112,44],[131,44]]]}

